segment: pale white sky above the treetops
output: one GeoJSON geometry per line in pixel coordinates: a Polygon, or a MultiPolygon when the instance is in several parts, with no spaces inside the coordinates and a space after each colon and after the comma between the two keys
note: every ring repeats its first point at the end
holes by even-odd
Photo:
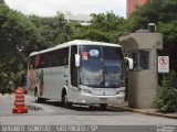
{"type": "Polygon", "coordinates": [[[105,13],[113,11],[126,18],[126,0],[4,0],[6,3],[24,14],[53,16],[56,12],[73,14],[105,13]]]}

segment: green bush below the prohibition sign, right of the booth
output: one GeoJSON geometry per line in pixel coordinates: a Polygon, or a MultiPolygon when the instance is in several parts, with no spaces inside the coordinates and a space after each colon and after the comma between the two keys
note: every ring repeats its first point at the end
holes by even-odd
{"type": "Polygon", "coordinates": [[[160,112],[174,112],[177,110],[177,88],[175,88],[174,84],[176,79],[177,73],[171,72],[164,78],[162,87],[157,88],[155,106],[160,112]]]}

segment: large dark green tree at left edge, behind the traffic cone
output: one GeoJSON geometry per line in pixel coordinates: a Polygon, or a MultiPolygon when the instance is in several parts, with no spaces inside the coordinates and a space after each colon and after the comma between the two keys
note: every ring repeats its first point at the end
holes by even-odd
{"type": "Polygon", "coordinates": [[[40,48],[40,44],[35,25],[22,13],[0,4],[0,87],[9,80],[19,84],[20,74],[27,68],[27,55],[40,48]]]}

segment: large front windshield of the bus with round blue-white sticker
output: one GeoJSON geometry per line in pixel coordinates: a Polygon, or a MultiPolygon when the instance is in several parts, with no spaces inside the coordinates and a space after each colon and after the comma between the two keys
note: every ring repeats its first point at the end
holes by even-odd
{"type": "Polygon", "coordinates": [[[81,85],[97,88],[124,86],[123,53],[121,47],[82,45],[80,46],[81,85]]]}

